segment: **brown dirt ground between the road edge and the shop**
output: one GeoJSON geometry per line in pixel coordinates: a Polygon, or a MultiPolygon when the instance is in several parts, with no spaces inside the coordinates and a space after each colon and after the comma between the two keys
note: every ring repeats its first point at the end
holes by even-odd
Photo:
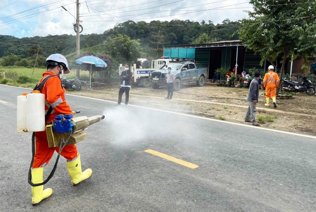
{"type": "MultiPolygon", "coordinates": [[[[118,100],[119,86],[94,87],[81,91],[67,91],[69,94],[88,96],[110,101],[118,100]]],[[[219,87],[205,84],[197,87],[195,84],[183,85],[179,91],[173,92],[172,100],[166,100],[167,88],[133,87],[130,90],[129,104],[146,106],[162,110],[210,117],[228,122],[249,124],[244,122],[248,89],[219,87]]],[[[125,95],[123,95],[124,101],[125,95]]],[[[265,106],[265,91],[260,90],[257,105],[258,118],[272,116],[272,121],[260,123],[261,127],[290,131],[295,133],[316,135],[316,96],[305,93],[295,94],[292,99],[277,98],[277,108],[265,106]]],[[[271,100],[270,100],[271,101],[271,100]]]]}

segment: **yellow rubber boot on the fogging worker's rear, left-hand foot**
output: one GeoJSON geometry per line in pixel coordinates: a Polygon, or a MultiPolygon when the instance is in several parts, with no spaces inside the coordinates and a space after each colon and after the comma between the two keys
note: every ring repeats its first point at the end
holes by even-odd
{"type": "MultiPolygon", "coordinates": [[[[44,168],[37,168],[37,169],[32,169],[32,183],[43,183],[43,171],[44,168]]],[[[49,197],[52,194],[52,189],[44,189],[43,186],[32,186],[32,204],[35,206],[36,204],[40,203],[43,199],[49,197]]]]}

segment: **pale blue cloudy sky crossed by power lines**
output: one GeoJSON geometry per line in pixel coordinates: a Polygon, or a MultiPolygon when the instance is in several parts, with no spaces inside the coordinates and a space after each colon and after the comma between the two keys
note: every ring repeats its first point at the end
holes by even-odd
{"type": "MultiPolygon", "coordinates": [[[[75,35],[76,0],[1,0],[0,35],[75,35]],[[62,6],[67,10],[64,10],[62,6]]],[[[101,34],[124,21],[221,23],[247,18],[247,0],[79,0],[81,34],[101,34]]]]}

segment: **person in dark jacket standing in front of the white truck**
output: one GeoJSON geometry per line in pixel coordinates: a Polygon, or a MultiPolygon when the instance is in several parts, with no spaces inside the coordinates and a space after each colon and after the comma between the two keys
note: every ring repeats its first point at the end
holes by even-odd
{"type": "Polygon", "coordinates": [[[132,85],[132,77],[133,73],[131,72],[130,64],[125,65],[124,71],[122,71],[120,75],[121,79],[121,87],[119,91],[119,101],[116,106],[120,106],[122,103],[122,96],[123,93],[125,92],[125,105],[128,105],[128,100],[129,100],[129,90],[131,89],[132,85]]]}

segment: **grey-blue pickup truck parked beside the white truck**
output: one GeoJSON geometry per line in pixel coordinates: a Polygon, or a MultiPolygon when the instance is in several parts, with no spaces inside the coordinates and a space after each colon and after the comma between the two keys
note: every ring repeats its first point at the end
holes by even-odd
{"type": "Polygon", "coordinates": [[[167,85],[166,75],[168,67],[171,67],[171,72],[174,74],[175,82],[173,83],[173,88],[176,91],[180,90],[181,85],[184,83],[196,82],[197,86],[203,86],[205,79],[208,77],[208,69],[198,68],[194,62],[170,61],[169,64],[149,74],[152,88],[157,89],[161,85],[167,85]]]}

